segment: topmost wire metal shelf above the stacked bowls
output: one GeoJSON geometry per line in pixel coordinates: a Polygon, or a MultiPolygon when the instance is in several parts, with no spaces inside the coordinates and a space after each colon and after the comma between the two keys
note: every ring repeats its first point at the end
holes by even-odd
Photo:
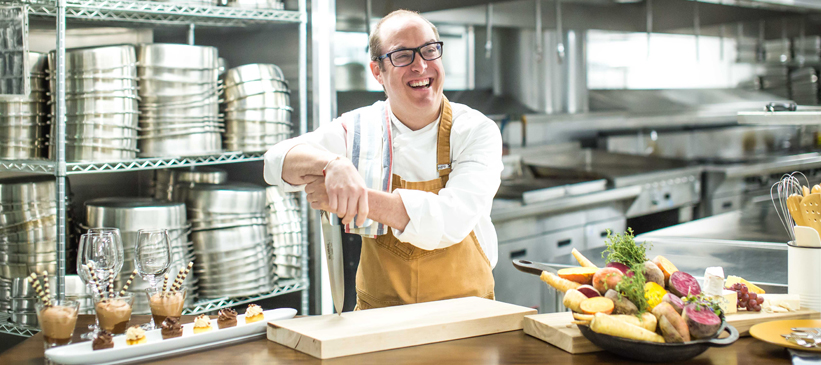
{"type": "MultiPolygon", "coordinates": [[[[32,16],[56,17],[54,1],[0,0],[3,5],[27,5],[32,16]]],[[[241,27],[250,24],[300,23],[305,15],[299,11],[279,9],[246,9],[199,4],[152,1],[67,0],[66,18],[147,23],[156,25],[200,25],[241,27]]]]}

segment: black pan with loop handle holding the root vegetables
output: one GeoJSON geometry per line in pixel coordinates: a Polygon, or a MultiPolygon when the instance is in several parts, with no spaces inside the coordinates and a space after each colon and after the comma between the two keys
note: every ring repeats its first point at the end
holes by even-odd
{"type": "Polygon", "coordinates": [[[710,347],[729,346],[738,340],[738,330],[727,324],[721,323],[718,333],[713,338],[694,340],[685,343],[658,343],[647,341],[636,341],[626,338],[605,335],[593,332],[588,326],[579,325],[579,331],[594,345],[602,349],[626,357],[628,359],[646,362],[675,362],[692,359],[707,351],[710,347]],[[723,332],[728,332],[730,336],[718,338],[723,332]]]}

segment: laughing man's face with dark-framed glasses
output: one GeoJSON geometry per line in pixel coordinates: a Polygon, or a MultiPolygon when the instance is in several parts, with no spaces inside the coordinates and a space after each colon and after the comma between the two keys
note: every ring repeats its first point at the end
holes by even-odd
{"type": "MultiPolygon", "coordinates": [[[[416,16],[398,16],[389,19],[380,29],[382,54],[403,48],[416,48],[436,42],[430,25],[416,16]]],[[[414,54],[413,63],[394,67],[388,58],[371,62],[371,71],[385,88],[394,112],[405,116],[410,113],[438,111],[442,104],[445,70],[442,59],[425,61],[414,54]],[[380,67],[380,64],[381,67],[380,67]]]]}

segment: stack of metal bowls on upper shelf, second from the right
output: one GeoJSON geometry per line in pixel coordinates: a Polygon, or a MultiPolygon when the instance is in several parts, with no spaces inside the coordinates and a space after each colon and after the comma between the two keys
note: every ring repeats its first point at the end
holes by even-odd
{"type": "Polygon", "coordinates": [[[140,156],[220,153],[217,49],[184,44],[144,44],[140,62],[140,156]]]}

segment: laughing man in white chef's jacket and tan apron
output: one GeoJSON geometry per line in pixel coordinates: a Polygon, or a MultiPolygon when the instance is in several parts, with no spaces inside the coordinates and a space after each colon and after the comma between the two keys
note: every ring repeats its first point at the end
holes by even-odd
{"type": "Polygon", "coordinates": [[[312,208],[362,236],[357,309],[494,298],[501,134],[444,96],[443,46],[418,13],[388,14],[370,35],[370,70],[387,100],[265,154],[265,181],[304,189],[312,208]]]}

